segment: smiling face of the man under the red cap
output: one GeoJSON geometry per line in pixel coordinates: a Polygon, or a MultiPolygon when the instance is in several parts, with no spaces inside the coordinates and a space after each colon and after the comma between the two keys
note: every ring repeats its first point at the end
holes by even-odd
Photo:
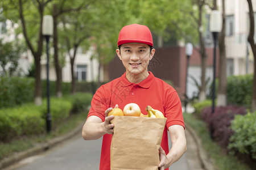
{"type": "Polygon", "coordinates": [[[150,52],[150,46],[142,43],[122,44],[120,50],[117,49],[117,55],[122,60],[128,74],[147,74],[147,66],[154,56],[155,49],[150,52]]]}

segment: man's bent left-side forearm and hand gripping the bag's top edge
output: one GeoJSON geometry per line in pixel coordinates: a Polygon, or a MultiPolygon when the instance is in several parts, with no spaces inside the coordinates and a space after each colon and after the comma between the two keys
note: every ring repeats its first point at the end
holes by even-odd
{"type": "Polygon", "coordinates": [[[106,109],[104,122],[102,122],[101,118],[97,116],[88,117],[82,127],[82,138],[85,140],[94,140],[102,137],[104,134],[113,134],[114,125],[110,123],[110,120],[112,120],[114,116],[108,116],[108,113],[111,110],[112,108],[106,109]]]}

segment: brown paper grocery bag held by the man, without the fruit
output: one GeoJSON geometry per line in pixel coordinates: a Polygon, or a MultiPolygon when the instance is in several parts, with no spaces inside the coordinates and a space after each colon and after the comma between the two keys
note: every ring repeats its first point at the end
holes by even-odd
{"type": "Polygon", "coordinates": [[[166,118],[115,116],[110,169],[158,169],[166,118]]]}

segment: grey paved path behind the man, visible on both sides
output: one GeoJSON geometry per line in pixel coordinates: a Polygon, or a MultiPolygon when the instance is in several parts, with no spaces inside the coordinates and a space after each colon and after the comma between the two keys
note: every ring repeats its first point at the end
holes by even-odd
{"type": "MultiPolygon", "coordinates": [[[[5,170],[98,170],[102,139],[84,141],[80,135],[43,154],[26,158],[5,170]]],[[[188,131],[186,131],[186,136],[187,152],[171,166],[171,170],[201,169],[195,141],[188,131]]]]}

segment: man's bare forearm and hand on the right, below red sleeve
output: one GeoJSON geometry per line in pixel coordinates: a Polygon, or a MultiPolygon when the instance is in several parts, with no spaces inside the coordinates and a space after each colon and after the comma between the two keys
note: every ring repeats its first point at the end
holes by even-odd
{"type": "Polygon", "coordinates": [[[179,160],[187,150],[187,141],[183,126],[172,125],[168,130],[171,136],[172,148],[166,155],[163,148],[160,147],[160,170],[170,167],[173,163],[179,160]]]}

